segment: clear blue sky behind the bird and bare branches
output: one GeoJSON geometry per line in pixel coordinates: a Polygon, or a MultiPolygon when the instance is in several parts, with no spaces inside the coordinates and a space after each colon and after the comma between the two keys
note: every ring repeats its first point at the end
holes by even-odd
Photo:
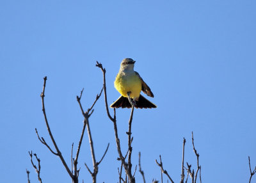
{"type": "MultiPolygon", "coordinates": [[[[70,177],[35,134],[52,146],[40,93],[47,76],[45,107],[54,138],[70,164],[70,150],[83,127],[84,109],[102,88],[99,61],[106,68],[109,104],[120,94],[113,81],[124,58],[154,93],[157,109],[136,109],[132,122],[132,163],[147,182],[161,179],[155,159],[180,180],[182,140],[185,162],[196,168],[191,145],[200,154],[202,182],[248,182],[256,165],[256,1],[0,1],[0,182],[37,182],[29,150],[41,159],[44,182],[70,177]]],[[[113,111],[111,110],[111,113],[113,111]]],[[[118,109],[118,132],[127,148],[129,109],[118,109]]],[[[103,97],[90,118],[99,182],[117,182],[120,162],[113,123],[103,97]]],[[[91,182],[87,134],[79,159],[80,180],[91,182]]],[[[136,172],[137,182],[142,182],[136,172]]],[[[164,177],[166,180],[166,177],[164,177]]],[[[256,182],[253,177],[252,182],[256,182]]]]}

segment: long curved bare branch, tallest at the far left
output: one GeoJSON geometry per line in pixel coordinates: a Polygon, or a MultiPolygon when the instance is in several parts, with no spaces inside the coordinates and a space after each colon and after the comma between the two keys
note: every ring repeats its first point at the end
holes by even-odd
{"type": "MultiPolygon", "coordinates": [[[[65,166],[65,168],[66,168],[66,170],[67,170],[67,172],[68,172],[68,175],[73,179],[72,172],[71,172],[70,169],[68,168],[67,163],[65,162],[65,160],[64,160],[64,158],[63,158],[63,156],[62,156],[62,154],[61,154],[61,152],[60,152],[60,150],[59,150],[59,148],[58,148],[58,146],[57,146],[57,144],[56,144],[56,142],[55,142],[55,140],[54,140],[54,138],[53,138],[53,136],[52,136],[52,132],[51,132],[51,129],[50,129],[48,120],[47,120],[46,113],[45,113],[45,105],[44,105],[44,97],[45,97],[45,94],[44,94],[44,93],[45,93],[46,80],[47,80],[47,77],[45,76],[45,77],[44,77],[43,92],[41,93],[41,98],[42,98],[42,111],[43,111],[43,113],[44,113],[45,123],[46,123],[46,126],[47,126],[47,130],[48,130],[48,132],[49,132],[49,135],[50,135],[50,137],[51,137],[51,139],[52,139],[52,143],[54,144],[54,147],[56,148],[57,154],[58,154],[58,156],[60,157],[63,166],[65,166]]],[[[49,148],[49,147],[48,147],[48,148],[49,148]]],[[[52,152],[52,151],[51,151],[51,152],[52,152]]]]}

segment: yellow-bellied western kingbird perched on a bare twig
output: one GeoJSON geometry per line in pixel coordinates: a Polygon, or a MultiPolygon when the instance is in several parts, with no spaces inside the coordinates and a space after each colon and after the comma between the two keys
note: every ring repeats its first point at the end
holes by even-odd
{"type": "Polygon", "coordinates": [[[148,85],[143,81],[138,72],[134,71],[135,61],[131,58],[122,60],[120,70],[115,79],[115,88],[121,96],[110,107],[112,108],[156,108],[157,106],[140,95],[144,92],[149,97],[154,97],[148,85]]]}

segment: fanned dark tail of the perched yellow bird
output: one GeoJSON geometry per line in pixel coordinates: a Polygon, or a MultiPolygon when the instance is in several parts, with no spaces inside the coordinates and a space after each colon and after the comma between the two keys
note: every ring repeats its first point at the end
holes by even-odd
{"type": "MultiPolygon", "coordinates": [[[[131,99],[133,100],[133,99],[131,99]]],[[[111,104],[112,108],[131,108],[132,105],[130,104],[129,100],[127,97],[123,97],[122,95],[113,103],[111,104]]],[[[156,108],[157,106],[147,100],[145,97],[140,95],[139,100],[135,102],[135,107],[136,108],[156,108]]]]}

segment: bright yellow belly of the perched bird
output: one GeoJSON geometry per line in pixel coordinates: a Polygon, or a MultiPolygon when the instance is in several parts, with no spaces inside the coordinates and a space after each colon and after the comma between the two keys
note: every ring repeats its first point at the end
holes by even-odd
{"type": "Polygon", "coordinates": [[[118,73],[115,80],[115,88],[124,97],[127,97],[127,92],[131,92],[130,97],[132,99],[140,97],[140,77],[138,77],[135,73],[129,75],[123,75],[118,73]]]}

